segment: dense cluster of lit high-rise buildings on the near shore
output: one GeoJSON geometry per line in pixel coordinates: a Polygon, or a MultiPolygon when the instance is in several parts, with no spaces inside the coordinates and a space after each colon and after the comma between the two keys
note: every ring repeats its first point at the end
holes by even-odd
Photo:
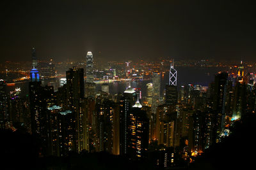
{"type": "MultiPolygon", "coordinates": [[[[109,94],[108,83],[103,83],[96,92],[92,52],[85,58],[86,67],[70,68],[54,90],[42,85],[33,48],[27,101],[20,97],[20,89],[6,94],[6,83],[0,80],[1,128],[15,131],[14,127],[24,127],[40,139],[40,152],[45,156],[86,150],[173,167],[179,166],[178,159],[191,162],[213,143],[221,142],[232,122],[256,109],[255,80],[253,73],[246,73],[243,62],[233,74],[216,74],[209,87],[177,87],[179,75],[170,60],[164,95],[162,73],[156,69],[141,102],[140,91],[131,86],[123,93],[109,94]]],[[[125,62],[127,77],[132,74],[130,64],[125,62]]],[[[54,67],[48,70],[54,73],[54,67]]]]}

